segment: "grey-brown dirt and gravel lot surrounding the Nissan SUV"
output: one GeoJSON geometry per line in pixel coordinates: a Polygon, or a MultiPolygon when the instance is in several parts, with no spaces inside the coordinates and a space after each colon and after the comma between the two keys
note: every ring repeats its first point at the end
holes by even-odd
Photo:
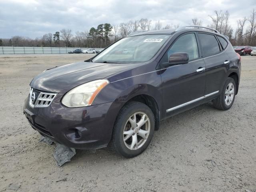
{"type": "Polygon", "coordinates": [[[252,56],[242,57],[239,93],[230,110],[208,103],[162,121],[148,149],[136,158],[107,149],[78,150],[58,168],[54,147],[39,142],[22,113],[24,99],[36,74],[91,56],[0,55],[0,192],[256,192],[252,56]]]}

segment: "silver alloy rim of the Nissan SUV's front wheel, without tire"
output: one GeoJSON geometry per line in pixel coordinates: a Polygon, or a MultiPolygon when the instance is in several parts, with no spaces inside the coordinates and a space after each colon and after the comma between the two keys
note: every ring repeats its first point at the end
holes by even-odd
{"type": "Polygon", "coordinates": [[[136,112],[128,118],[123,131],[125,146],[130,150],[141,148],[150,133],[150,120],[143,112],[136,112]]]}

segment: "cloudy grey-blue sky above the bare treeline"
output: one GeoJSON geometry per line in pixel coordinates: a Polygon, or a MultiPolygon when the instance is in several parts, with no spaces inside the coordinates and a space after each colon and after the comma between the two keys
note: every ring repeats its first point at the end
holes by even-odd
{"type": "Polygon", "coordinates": [[[236,20],[250,16],[253,8],[256,0],[0,0],[0,38],[36,38],[62,28],[74,33],[140,18],[154,26],[158,20],[163,25],[191,24],[197,17],[206,26],[214,10],[228,10],[236,28],[236,20]]]}

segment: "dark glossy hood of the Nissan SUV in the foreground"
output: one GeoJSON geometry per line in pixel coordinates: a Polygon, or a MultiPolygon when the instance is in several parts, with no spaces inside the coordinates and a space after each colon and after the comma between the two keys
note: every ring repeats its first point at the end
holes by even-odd
{"type": "Polygon", "coordinates": [[[131,68],[132,64],[77,62],[46,70],[30,86],[46,92],[66,93],[72,88],[131,68]]]}

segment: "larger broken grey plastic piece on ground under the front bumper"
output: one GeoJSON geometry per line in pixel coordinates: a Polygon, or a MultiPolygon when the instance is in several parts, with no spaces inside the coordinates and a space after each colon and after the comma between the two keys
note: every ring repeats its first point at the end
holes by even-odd
{"type": "Polygon", "coordinates": [[[64,163],[70,161],[70,159],[76,154],[76,150],[74,148],[69,148],[61,144],[56,144],[56,145],[57,146],[55,148],[53,156],[57,161],[58,167],[60,167],[64,163]]]}

